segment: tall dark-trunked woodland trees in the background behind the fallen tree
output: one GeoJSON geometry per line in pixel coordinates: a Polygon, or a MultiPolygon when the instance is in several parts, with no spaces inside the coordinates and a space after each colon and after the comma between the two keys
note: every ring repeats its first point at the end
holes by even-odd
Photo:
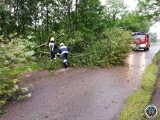
{"type": "Polygon", "coordinates": [[[32,35],[43,43],[53,31],[68,37],[76,32],[99,37],[113,27],[148,32],[150,19],[158,20],[159,2],[143,1],[129,12],[123,0],[107,0],[106,5],[99,0],[1,0],[0,35],[32,35]]]}

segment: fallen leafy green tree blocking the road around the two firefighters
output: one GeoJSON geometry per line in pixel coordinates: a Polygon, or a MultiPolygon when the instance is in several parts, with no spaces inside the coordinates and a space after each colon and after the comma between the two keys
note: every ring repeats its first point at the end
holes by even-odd
{"type": "MultiPolygon", "coordinates": [[[[105,31],[98,37],[94,33],[76,31],[71,38],[67,40],[60,39],[58,43],[64,42],[69,48],[69,63],[71,66],[112,66],[123,64],[124,59],[131,51],[133,37],[130,31],[118,28],[105,31]]],[[[39,51],[49,51],[48,46],[39,49],[39,51]]],[[[49,54],[40,55],[38,64],[42,68],[59,69],[61,68],[61,59],[50,61],[49,54]]]]}

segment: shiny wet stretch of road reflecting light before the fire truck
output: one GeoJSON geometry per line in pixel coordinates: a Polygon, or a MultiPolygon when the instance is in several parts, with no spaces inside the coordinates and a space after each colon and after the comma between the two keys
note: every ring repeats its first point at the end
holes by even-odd
{"type": "Polygon", "coordinates": [[[127,71],[127,77],[130,80],[134,80],[133,85],[139,87],[142,74],[146,66],[152,62],[153,57],[160,49],[160,45],[152,45],[149,51],[136,51],[132,52],[129,57],[126,59],[129,70],[127,71]]]}

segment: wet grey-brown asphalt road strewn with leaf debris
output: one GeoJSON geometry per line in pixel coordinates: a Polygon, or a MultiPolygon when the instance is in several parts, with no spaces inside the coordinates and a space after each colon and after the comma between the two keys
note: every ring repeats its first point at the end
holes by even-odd
{"type": "Polygon", "coordinates": [[[21,79],[33,84],[33,96],[7,105],[0,120],[116,120],[159,49],[133,52],[122,67],[28,73],[21,79]]]}

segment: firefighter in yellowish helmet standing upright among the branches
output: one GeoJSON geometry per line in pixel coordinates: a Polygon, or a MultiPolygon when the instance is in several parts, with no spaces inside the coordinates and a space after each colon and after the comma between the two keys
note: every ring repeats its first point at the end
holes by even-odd
{"type": "Polygon", "coordinates": [[[51,53],[51,60],[56,59],[57,44],[55,42],[54,36],[50,37],[49,50],[50,50],[50,53],[51,53]]]}

